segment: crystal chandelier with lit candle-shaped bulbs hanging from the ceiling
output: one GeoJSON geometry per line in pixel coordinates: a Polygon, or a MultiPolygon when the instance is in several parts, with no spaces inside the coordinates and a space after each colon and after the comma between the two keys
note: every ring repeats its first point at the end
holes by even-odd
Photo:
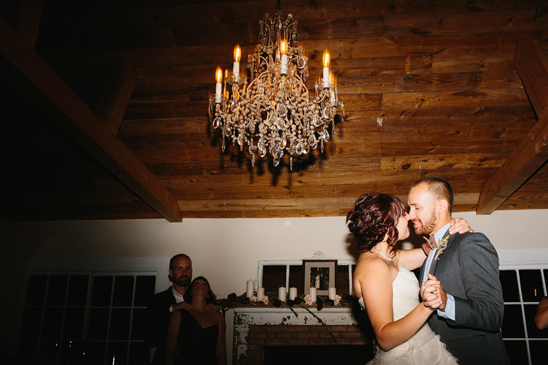
{"type": "Polygon", "coordinates": [[[336,78],[329,72],[329,53],[323,55],[323,75],[316,80],[314,91],[306,86],[308,57],[298,46],[297,21],[289,15],[282,21],[277,10],[275,19],[268,14],[259,21],[259,42],[255,53],[248,55],[248,72],[240,73],[241,50],[234,48],[232,72],[216,70],[216,92],[209,98],[209,120],[221,128],[225,141],[238,143],[240,151],[247,145],[255,166],[255,153],[273,157],[280,164],[284,150],[293,156],[308,154],[329,141],[329,124],[335,135],[336,109],[344,106],[337,95],[336,78]],[[227,86],[228,84],[228,86],[227,86]]]}

